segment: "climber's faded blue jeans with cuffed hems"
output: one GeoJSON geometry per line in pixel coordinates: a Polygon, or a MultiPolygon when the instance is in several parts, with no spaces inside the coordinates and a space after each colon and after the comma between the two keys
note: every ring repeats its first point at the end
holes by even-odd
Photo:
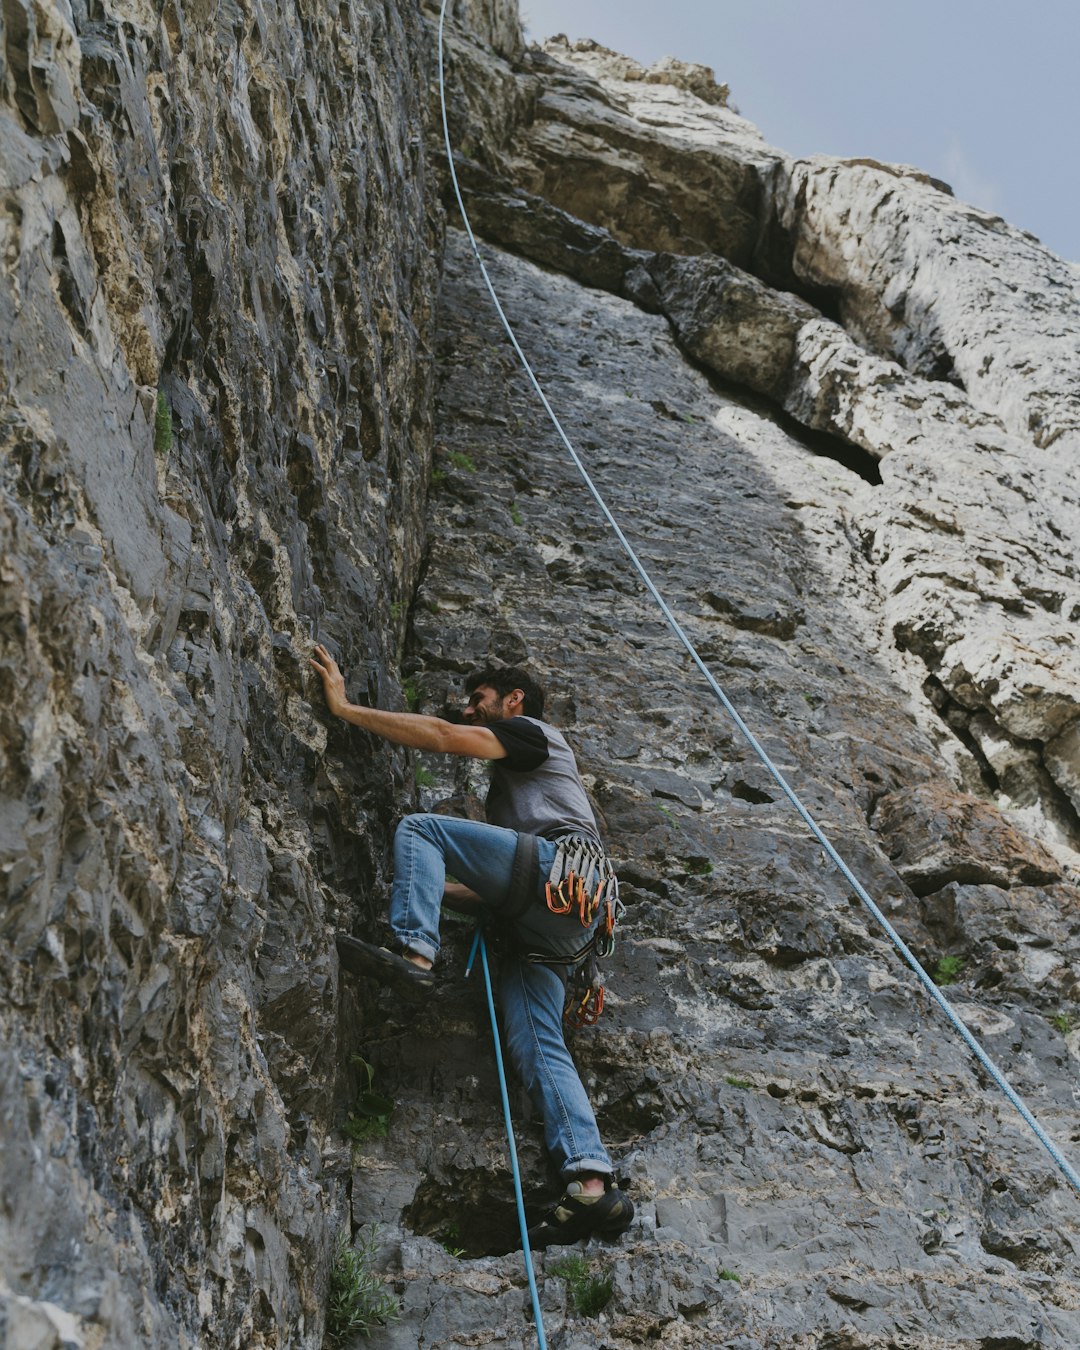
{"type": "MultiPolygon", "coordinates": [[[[539,891],[555,860],[555,844],[544,838],[537,844],[539,891]]],[[[475,891],[494,915],[508,898],[516,850],[514,830],[451,815],[406,815],[394,836],[394,936],[433,961],[447,872],[475,891]]],[[[514,929],[532,950],[543,949],[545,937],[564,941],[574,934],[575,942],[587,937],[576,914],[552,914],[540,900],[514,929]]],[[[563,1038],[563,999],[564,981],[558,971],[513,953],[504,957],[498,1002],[506,1053],[544,1123],[548,1153],[563,1176],[610,1173],[612,1160],[563,1038]]]]}

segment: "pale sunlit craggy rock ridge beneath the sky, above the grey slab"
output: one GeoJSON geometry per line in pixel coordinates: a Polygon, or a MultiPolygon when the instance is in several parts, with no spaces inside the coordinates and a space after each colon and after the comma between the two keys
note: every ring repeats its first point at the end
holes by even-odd
{"type": "Polygon", "coordinates": [[[626,69],[591,42],[531,54],[533,112],[502,165],[518,192],[477,182],[481,228],[664,313],[694,360],[883,479],[856,528],[883,578],[890,663],[940,716],[960,779],[1075,855],[1080,666],[1062,621],[1080,609],[1076,269],[917,169],[788,161],[726,109],[626,69]],[[556,130],[578,166],[564,178],[545,167],[556,130]],[[666,194],[672,225],[629,186],[626,155],[662,181],[655,161],[676,162],[675,142],[697,170],[666,194]],[[755,228],[691,239],[701,202],[684,193],[698,186],[738,219],[725,174],[753,178],[755,228]],[[551,200],[533,208],[521,186],[551,200]]]}

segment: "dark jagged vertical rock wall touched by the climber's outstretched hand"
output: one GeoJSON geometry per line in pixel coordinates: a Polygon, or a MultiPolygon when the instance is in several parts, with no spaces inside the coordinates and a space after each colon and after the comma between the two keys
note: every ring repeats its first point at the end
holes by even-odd
{"type": "Polygon", "coordinates": [[[400,698],[428,35],[378,0],[3,24],[0,1341],[320,1345],[331,933],[412,784],[301,659],[400,698]]]}

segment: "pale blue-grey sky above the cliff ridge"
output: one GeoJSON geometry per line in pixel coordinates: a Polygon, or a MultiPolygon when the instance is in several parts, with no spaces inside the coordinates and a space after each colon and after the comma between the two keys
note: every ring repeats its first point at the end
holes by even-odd
{"type": "Polygon", "coordinates": [[[528,36],[699,61],[794,155],[917,165],[1080,261],[1080,0],[521,0],[528,36]]]}

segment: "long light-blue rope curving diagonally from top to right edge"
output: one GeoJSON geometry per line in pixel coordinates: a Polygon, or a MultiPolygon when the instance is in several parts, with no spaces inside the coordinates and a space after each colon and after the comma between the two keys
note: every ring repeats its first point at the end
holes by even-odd
{"type": "Polygon", "coordinates": [[[597,486],[593,482],[593,479],[589,477],[589,473],[586,471],[586,467],[582,463],[580,456],[578,455],[578,452],[574,448],[574,446],[570,443],[570,437],[567,436],[567,433],[563,431],[563,424],[555,416],[555,410],[552,409],[551,404],[548,402],[547,394],[540,387],[540,381],[533,374],[533,369],[529,364],[528,358],[525,356],[525,352],[521,350],[520,344],[517,342],[517,336],[514,335],[514,331],[510,327],[510,323],[506,319],[506,315],[504,313],[504,309],[502,309],[502,305],[500,302],[500,298],[495,294],[495,288],[493,286],[491,278],[487,274],[487,267],[485,266],[483,258],[481,256],[481,251],[479,251],[479,247],[477,244],[477,236],[473,234],[473,225],[471,225],[471,223],[468,220],[468,212],[464,209],[464,201],[462,200],[462,189],[460,189],[460,185],[458,182],[458,171],[456,171],[456,169],[454,166],[454,147],[452,147],[451,140],[450,140],[450,123],[447,120],[446,76],[444,76],[444,59],[443,59],[443,27],[444,27],[444,23],[446,23],[446,12],[447,12],[447,0],[443,0],[441,11],[439,14],[439,103],[440,103],[441,113],[443,113],[443,139],[444,139],[444,143],[446,143],[447,163],[450,165],[450,177],[451,177],[451,181],[454,184],[454,196],[458,200],[458,209],[462,213],[462,220],[464,223],[466,234],[468,235],[468,242],[473,246],[473,252],[474,252],[474,255],[477,258],[477,262],[479,263],[479,269],[481,269],[481,273],[483,275],[485,285],[487,286],[487,292],[491,296],[491,302],[495,306],[495,312],[498,313],[498,317],[500,317],[500,320],[502,323],[502,327],[506,329],[506,336],[510,339],[510,344],[513,346],[514,351],[517,352],[517,359],[521,362],[521,366],[522,366],[525,374],[529,377],[529,382],[532,383],[532,387],[536,390],[536,394],[540,398],[540,402],[544,405],[544,409],[545,409],[548,417],[551,418],[552,425],[555,427],[555,431],[559,433],[559,439],[562,440],[563,446],[566,446],[567,454],[570,455],[571,460],[574,462],[574,466],[576,467],[578,473],[580,474],[582,479],[585,481],[585,486],[589,489],[589,491],[591,493],[594,501],[599,506],[601,513],[603,514],[603,518],[608,521],[608,524],[614,531],[616,539],[618,539],[620,544],[622,545],[624,551],[626,552],[626,556],[629,558],[630,563],[633,564],[634,571],[637,572],[637,575],[641,578],[641,580],[643,580],[643,583],[645,586],[645,590],[648,590],[649,595],[652,595],[652,598],[656,601],[656,605],[659,606],[660,613],[664,616],[664,620],[667,621],[667,624],[671,628],[672,633],[678,637],[678,640],[686,648],[690,659],[694,662],[694,664],[698,667],[698,670],[701,671],[701,674],[705,676],[706,683],[711,688],[713,694],[716,694],[716,697],[720,701],[720,703],[724,707],[724,710],[728,713],[728,716],[732,718],[732,721],[734,722],[734,725],[742,733],[742,736],[747,740],[748,745],[755,752],[755,755],[761,761],[761,764],[765,767],[765,770],[768,771],[768,774],[772,776],[772,779],[776,783],[776,786],[780,788],[780,791],[784,794],[784,796],[788,799],[788,802],[791,802],[791,805],[799,813],[799,815],[802,817],[803,822],[809,828],[810,833],[814,836],[814,838],[818,841],[818,844],[821,844],[821,846],[825,849],[825,853],[828,855],[828,857],[836,864],[836,867],[840,869],[841,875],[848,882],[848,884],[855,891],[855,894],[859,896],[859,899],[863,902],[863,905],[865,906],[865,909],[869,911],[869,914],[873,917],[873,919],[878,922],[878,925],[886,933],[886,936],[892,942],[892,945],[896,948],[896,950],[900,953],[900,956],[905,959],[905,961],[911,967],[911,969],[914,971],[914,973],[915,973],[917,979],[919,980],[919,983],[922,984],[922,987],[926,990],[926,992],[930,995],[930,998],[934,1000],[934,1003],[937,1003],[937,1006],[941,1008],[941,1011],[945,1014],[945,1017],[953,1025],[953,1027],[956,1029],[956,1031],[963,1038],[964,1044],[968,1046],[968,1049],[972,1052],[972,1054],[975,1054],[976,1060],[979,1060],[979,1062],[983,1065],[983,1068],[987,1071],[987,1073],[991,1076],[991,1079],[994,1079],[994,1081],[998,1084],[998,1087],[1002,1089],[1002,1092],[1004,1092],[1004,1095],[1008,1098],[1008,1100],[1017,1108],[1017,1111],[1021,1115],[1021,1118],[1023,1119],[1023,1122],[1031,1129],[1031,1131],[1035,1135],[1035,1138],[1040,1141],[1040,1143],[1046,1149],[1046,1152],[1050,1154],[1050,1157],[1053,1158],[1053,1161],[1057,1164],[1058,1169],[1061,1170],[1062,1176],[1066,1179],[1066,1181],[1069,1183],[1069,1185],[1072,1185],[1072,1188],[1080,1195],[1080,1174],[1077,1174],[1076,1169],[1069,1164],[1069,1161],[1065,1158],[1065,1156],[1061,1153],[1061,1150],[1057,1148],[1057,1145],[1053,1142],[1053,1139],[1046,1134],[1046,1131],[1042,1129],[1042,1126],[1038,1123],[1038,1120],[1034,1118],[1034,1115],[1029,1111],[1027,1106],[1019,1098],[1019,1095],[1017,1094],[1017,1091],[1014,1089],[1014,1087],[1011,1085],[1011,1083],[1006,1079],[1004,1073],[1002,1073],[1002,1071],[990,1058],[990,1056],[983,1049],[983,1046],[979,1044],[979,1041],[975,1038],[975,1035],[968,1030],[968,1027],[961,1021],[961,1018],[959,1017],[959,1014],[953,1010],[953,1007],[949,1003],[949,1000],[945,998],[945,995],[941,992],[941,990],[934,984],[934,981],[930,979],[930,976],[922,968],[922,965],[919,964],[919,961],[915,957],[915,954],[909,949],[907,944],[903,941],[903,938],[900,937],[900,934],[892,927],[892,925],[888,922],[888,919],[886,918],[886,915],[882,913],[882,910],[878,907],[878,905],[875,905],[875,902],[871,899],[871,896],[868,895],[868,892],[865,891],[865,888],[863,887],[863,884],[859,882],[859,879],[850,871],[850,868],[848,867],[848,864],[844,861],[844,859],[833,848],[832,842],[826,838],[826,836],[822,832],[821,826],[817,824],[817,821],[813,818],[813,815],[807,811],[807,809],[803,806],[803,803],[795,795],[794,788],[791,788],[788,786],[788,783],[784,779],[783,774],[780,774],[780,771],[772,763],[772,760],[770,759],[770,756],[765,752],[765,749],[759,744],[759,741],[755,737],[753,732],[751,732],[749,726],[747,726],[747,724],[738,716],[738,711],[736,710],[734,705],[728,698],[728,695],[724,693],[724,690],[720,687],[720,684],[717,683],[716,678],[713,676],[713,672],[709,670],[709,667],[705,664],[705,662],[702,660],[702,657],[698,655],[698,649],[694,647],[694,644],[691,643],[691,640],[683,632],[682,625],[679,624],[679,621],[672,614],[671,609],[668,608],[667,602],[664,601],[664,597],[656,589],[656,586],[655,586],[652,578],[649,576],[648,571],[645,570],[644,564],[641,563],[641,560],[639,559],[637,554],[632,548],[632,545],[630,545],[629,540],[626,539],[626,536],[622,533],[622,531],[621,531],[621,528],[618,525],[618,521],[614,518],[614,516],[612,514],[612,512],[608,509],[608,504],[605,502],[603,497],[601,497],[599,490],[597,489],[597,486]]]}

